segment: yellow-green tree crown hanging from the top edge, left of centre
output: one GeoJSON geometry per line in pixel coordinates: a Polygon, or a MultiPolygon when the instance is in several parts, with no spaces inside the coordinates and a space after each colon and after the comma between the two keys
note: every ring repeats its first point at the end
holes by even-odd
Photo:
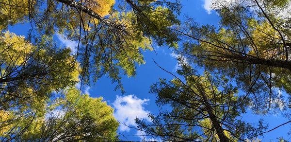
{"type": "Polygon", "coordinates": [[[179,23],[175,1],[125,0],[118,11],[113,0],[49,0],[44,12],[40,1],[33,3],[29,18],[40,33],[78,41],[75,58],[84,83],[108,73],[122,89],[119,72],[134,76],[135,65],[145,63],[141,51],[152,50],[153,40],[177,46],[169,29],[179,23]]]}

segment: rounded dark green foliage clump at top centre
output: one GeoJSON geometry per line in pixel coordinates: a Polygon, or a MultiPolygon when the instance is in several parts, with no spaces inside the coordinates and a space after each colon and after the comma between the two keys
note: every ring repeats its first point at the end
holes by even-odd
{"type": "Polygon", "coordinates": [[[140,7],[145,12],[136,15],[136,18],[147,20],[138,20],[137,29],[142,30],[146,36],[152,36],[160,46],[166,43],[170,47],[177,48],[177,33],[172,28],[175,29],[175,26],[179,25],[179,21],[173,11],[155,4],[142,4],[140,7]]]}

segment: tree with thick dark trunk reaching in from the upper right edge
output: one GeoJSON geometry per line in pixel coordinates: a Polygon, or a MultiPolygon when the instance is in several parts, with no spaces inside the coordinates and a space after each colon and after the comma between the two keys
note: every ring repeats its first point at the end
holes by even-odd
{"type": "Polygon", "coordinates": [[[289,0],[214,1],[219,28],[190,19],[180,31],[186,38],[181,53],[236,80],[258,113],[282,108],[277,89],[291,92],[288,5],[289,0]]]}

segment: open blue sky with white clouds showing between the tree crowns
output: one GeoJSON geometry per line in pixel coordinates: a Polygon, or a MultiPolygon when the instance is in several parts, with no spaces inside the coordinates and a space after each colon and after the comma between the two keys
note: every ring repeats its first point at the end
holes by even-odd
{"type": "MultiPolygon", "coordinates": [[[[115,3],[118,2],[116,1],[115,3]]],[[[183,19],[184,16],[190,16],[199,24],[218,24],[219,17],[211,10],[211,0],[181,0],[181,4],[181,16],[178,18],[183,19]]],[[[23,29],[26,27],[29,29],[29,26],[29,24],[15,25],[9,27],[9,30],[17,35],[26,35],[27,31],[23,29]]],[[[74,48],[77,45],[76,41],[66,40],[62,35],[55,35],[54,39],[58,40],[61,46],[70,47],[73,53],[76,52],[74,48]]],[[[128,126],[136,126],[134,121],[136,117],[149,121],[148,113],[157,114],[159,112],[159,108],[155,104],[156,94],[148,93],[150,86],[157,82],[159,78],[173,79],[173,76],[162,71],[154,61],[165,70],[174,74],[179,68],[176,60],[176,57],[179,56],[178,54],[168,47],[154,46],[154,48],[156,53],[151,51],[143,52],[146,64],[137,67],[137,75],[135,77],[122,76],[125,94],[122,94],[120,90],[114,91],[115,85],[112,84],[111,79],[106,75],[97,80],[96,83],[85,86],[82,90],[83,93],[90,94],[91,97],[103,97],[104,101],[114,108],[114,116],[120,122],[118,133],[120,138],[125,141],[153,140],[149,137],[141,136],[143,135],[142,132],[128,126]]],[[[256,123],[260,117],[250,112],[242,116],[243,120],[250,123],[256,123]]],[[[279,114],[263,117],[266,122],[270,123],[269,128],[287,121],[279,114]]],[[[288,136],[287,132],[290,130],[290,126],[290,124],[286,124],[284,127],[267,133],[265,137],[259,137],[259,139],[262,142],[269,142],[270,140],[275,142],[276,138],[280,136],[289,139],[291,136],[288,136]]]]}

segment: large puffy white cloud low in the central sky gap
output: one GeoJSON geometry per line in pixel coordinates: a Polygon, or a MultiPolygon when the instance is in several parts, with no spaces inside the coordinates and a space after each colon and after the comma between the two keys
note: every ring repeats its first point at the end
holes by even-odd
{"type": "Polygon", "coordinates": [[[147,117],[149,111],[143,107],[148,101],[149,99],[142,100],[134,95],[116,96],[116,100],[113,103],[115,108],[114,117],[121,123],[120,131],[129,131],[130,128],[128,126],[136,126],[135,118],[150,121],[147,117]]]}

